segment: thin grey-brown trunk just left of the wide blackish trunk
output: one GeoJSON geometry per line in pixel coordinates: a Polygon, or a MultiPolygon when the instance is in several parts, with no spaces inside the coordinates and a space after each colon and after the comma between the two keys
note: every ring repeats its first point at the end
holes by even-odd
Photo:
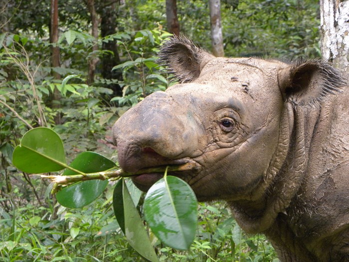
{"type": "MultiPolygon", "coordinates": [[[[95,41],[92,46],[92,51],[98,50],[98,15],[96,12],[96,9],[94,7],[94,0],[87,0],[87,6],[88,6],[88,11],[91,14],[91,22],[92,22],[92,36],[94,37],[95,41]]],[[[94,81],[94,72],[96,70],[96,65],[98,63],[99,59],[98,57],[92,56],[88,60],[88,77],[87,77],[87,83],[90,85],[94,81]]]]}

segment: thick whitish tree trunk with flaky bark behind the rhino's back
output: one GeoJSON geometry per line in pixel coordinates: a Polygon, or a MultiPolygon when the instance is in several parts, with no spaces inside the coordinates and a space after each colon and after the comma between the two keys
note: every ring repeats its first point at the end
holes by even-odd
{"type": "Polygon", "coordinates": [[[349,73],[349,0],[320,0],[321,53],[349,73]]]}

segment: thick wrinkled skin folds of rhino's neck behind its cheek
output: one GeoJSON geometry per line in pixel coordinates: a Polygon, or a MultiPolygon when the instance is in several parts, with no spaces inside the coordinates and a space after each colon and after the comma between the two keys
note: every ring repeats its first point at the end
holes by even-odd
{"type": "Polygon", "coordinates": [[[311,121],[311,128],[305,118],[301,106],[285,103],[278,146],[263,181],[249,199],[229,202],[235,219],[245,231],[267,230],[279,213],[286,213],[299,190],[308,163],[310,138],[306,136],[314,130],[316,123],[311,121]]]}

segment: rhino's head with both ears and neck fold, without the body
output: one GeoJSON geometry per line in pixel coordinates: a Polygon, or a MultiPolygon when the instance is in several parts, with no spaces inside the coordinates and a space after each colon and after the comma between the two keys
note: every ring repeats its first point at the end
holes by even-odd
{"type": "MultiPolygon", "coordinates": [[[[194,170],[172,174],[199,201],[231,203],[243,229],[266,230],[304,177],[312,132],[305,130],[304,111],[339,89],[338,72],[318,60],[218,58],[183,36],[165,42],[159,57],[179,83],[145,97],[116,121],[120,166],[134,172],[194,163],[194,170]]],[[[132,180],[146,191],[162,176],[132,180]]]]}

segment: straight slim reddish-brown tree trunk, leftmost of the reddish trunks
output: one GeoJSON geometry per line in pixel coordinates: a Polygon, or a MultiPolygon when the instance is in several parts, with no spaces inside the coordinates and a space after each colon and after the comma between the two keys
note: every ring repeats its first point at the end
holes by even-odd
{"type": "MultiPolygon", "coordinates": [[[[51,13],[50,13],[50,43],[52,44],[52,54],[51,54],[51,64],[52,67],[59,67],[59,47],[57,46],[58,42],[58,0],[51,0],[51,13]]],[[[60,74],[53,71],[53,78],[60,79],[60,74]]],[[[60,92],[57,88],[53,90],[52,97],[52,108],[60,107],[60,92]]],[[[56,124],[60,123],[60,114],[57,113],[54,117],[56,124]]]]}

